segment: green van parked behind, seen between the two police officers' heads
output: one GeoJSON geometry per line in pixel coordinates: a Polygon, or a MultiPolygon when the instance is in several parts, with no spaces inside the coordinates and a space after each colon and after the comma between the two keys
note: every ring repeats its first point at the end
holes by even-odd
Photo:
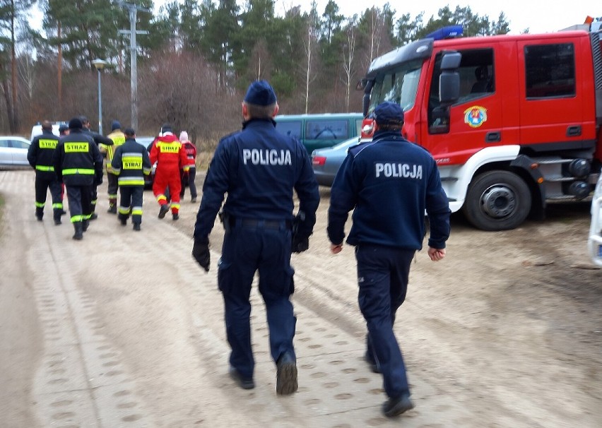
{"type": "Polygon", "coordinates": [[[360,136],[363,119],[361,113],[281,114],[274,118],[276,129],[298,138],[309,155],[317,148],[360,136]]]}

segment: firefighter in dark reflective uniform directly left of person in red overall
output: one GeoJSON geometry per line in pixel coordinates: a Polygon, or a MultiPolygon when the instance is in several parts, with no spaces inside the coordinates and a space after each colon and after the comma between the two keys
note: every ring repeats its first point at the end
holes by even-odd
{"type": "Polygon", "coordinates": [[[117,218],[125,226],[131,213],[134,230],[140,230],[144,176],[151,174],[151,160],[146,148],[136,143],[134,129],[126,128],[124,135],[126,141],[115,150],[111,162],[111,172],[114,177],[119,177],[119,193],[122,196],[117,218]]]}

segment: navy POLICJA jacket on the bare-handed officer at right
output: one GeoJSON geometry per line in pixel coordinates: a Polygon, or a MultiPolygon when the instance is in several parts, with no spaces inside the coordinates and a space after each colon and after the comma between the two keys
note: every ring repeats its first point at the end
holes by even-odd
{"type": "Polygon", "coordinates": [[[328,235],[332,243],[343,242],[345,222],[354,208],[348,244],[421,249],[426,212],[428,245],[445,248],[451,211],[437,164],[399,131],[377,131],[370,143],[349,149],[331,188],[328,235]]]}

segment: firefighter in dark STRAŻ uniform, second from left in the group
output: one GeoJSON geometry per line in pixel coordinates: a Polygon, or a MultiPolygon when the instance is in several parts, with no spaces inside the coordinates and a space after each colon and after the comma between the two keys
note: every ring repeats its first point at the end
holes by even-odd
{"type": "Polygon", "coordinates": [[[79,118],[69,121],[69,135],[59,140],[52,163],[67,189],[73,239],[83,239],[93,213],[92,188],[102,184],[102,155],[90,134],[83,133],[79,118]]]}

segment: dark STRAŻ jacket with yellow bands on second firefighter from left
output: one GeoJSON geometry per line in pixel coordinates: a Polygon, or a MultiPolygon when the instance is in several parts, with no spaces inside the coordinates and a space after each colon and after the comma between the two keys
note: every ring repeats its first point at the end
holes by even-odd
{"type": "Polygon", "coordinates": [[[54,172],[66,186],[92,186],[102,180],[102,155],[90,133],[71,129],[59,139],[52,157],[54,172]]]}

